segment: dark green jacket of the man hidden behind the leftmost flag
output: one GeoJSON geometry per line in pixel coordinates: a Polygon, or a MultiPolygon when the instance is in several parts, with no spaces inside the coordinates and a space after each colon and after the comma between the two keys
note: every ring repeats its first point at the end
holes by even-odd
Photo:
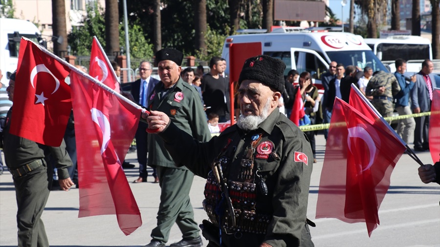
{"type": "Polygon", "coordinates": [[[3,129],[3,151],[6,165],[10,169],[17,169],[33,161],[44,159],[45,155],[50,153],[57,167],[58,177],[68,178],[67,167],[72,165],[72,161],[66,152],[64,140],[60,146],[53,147],[10,134],[11,114],[12,107],[6,115],[6,125],[3,129]]]}

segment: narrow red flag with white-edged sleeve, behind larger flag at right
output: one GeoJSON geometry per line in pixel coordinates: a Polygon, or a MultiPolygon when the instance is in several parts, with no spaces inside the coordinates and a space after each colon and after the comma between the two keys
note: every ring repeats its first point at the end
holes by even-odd
{"type": "Polygon", "coordinates": [[[365,115],[368,119],[373,120],[374,123],[377,124],[378,127],[382,128],[383,131],[387,132],[391,136],[394,136],[396,139],[396,143],[401,143],[402,145],[405,145],[405,143],[398,136],[396,131],[392,129],[390,124],[383,119],[380,113],[373,110],[374,106],[369,103],[367,98],[363,96],[363,94],[359,91],[359,89],[357,89],[354,84],[352,84],[352,88],[350,90],[349,104],[353,106],[356,110],[361,112],[363,115],[365,115]]]}

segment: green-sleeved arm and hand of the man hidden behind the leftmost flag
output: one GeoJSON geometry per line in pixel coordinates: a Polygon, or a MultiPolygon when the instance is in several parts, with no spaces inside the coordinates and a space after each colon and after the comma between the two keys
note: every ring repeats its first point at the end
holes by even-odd
{"type": "Polygon", "coordinates": [[[55,167],[57,167],[59,178],[58,183],[60,184],[62,190],[68,191],[74,184],[67,171],[67,167],[72,165],[72,160],[70,160],[70,157],[67,154],[66,143],[63,139],[63,142],[61,142],[60,146],[48,146],[48,148],[55,159],[55,167]]]}

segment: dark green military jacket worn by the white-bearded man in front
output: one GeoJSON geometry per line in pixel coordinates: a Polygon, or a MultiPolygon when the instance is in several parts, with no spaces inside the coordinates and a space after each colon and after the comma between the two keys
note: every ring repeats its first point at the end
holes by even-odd
{"type": "MultiPolygon", "coordinates": [[[[256,134],[262,134],[260,144],[272,144],[271,150],[278,158],[261,154],[259,147],[254,151],[254,173],[258,170],[268,188],[268,195],[256,196],[256,212],[272,218],[266,234],[246,238],[247,246],[259,246],[262,242],[277,247],[299,246],[306,221],[313,154],[305,134],[280,114],[278,108],[257,130],[246,133],[235,124],[206,143],[179,131],[173,123],[158,135],[165,141],[165,147],[177,165],[185,165],[203,178],[208,177],[211,163],[219,154],[226,154],[229,161],[223,168],[223,175],[236,181],[244,149],[256,134]]],[[[220,206],[226,210],[224,201],[220,206]]],[[[225,235],[222,236],[227,237],[225,235]]],[[[234,235],[231,236],[233,238],[234,235]]]]}

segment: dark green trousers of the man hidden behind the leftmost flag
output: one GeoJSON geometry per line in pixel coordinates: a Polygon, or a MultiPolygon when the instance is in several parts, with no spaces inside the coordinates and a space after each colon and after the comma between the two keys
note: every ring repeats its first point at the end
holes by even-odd
{"type": "Polygon", "coordinates": [[[18,208],[19,247],[49,246],[44,224],[41,220],[44,206],[49,198],[49,185],[52,183],[46,170],[46,166],[40,166],[28,174],[14,179],[18,208]]]}

